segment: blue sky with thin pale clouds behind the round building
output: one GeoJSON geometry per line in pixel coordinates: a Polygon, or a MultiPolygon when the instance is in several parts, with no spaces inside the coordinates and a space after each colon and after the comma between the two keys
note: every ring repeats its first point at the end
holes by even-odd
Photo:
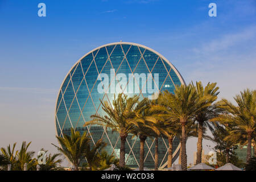
{"type": "MultiPolygon", "coordinates": [[[[32,140],[32,150],[55,152],[65,75],[86,52],[120,40],[155,49],[187,83],[217,82],[220,98],[256,89],[254,0],[0,0],[0,146],[32,140]],[[38,16],[40,2],[46,17],[38,16]],[[208,16],[211,2],[217,17],[208,16]]],[[[188,145],[192,163],[195,139],[188,145]]]]}

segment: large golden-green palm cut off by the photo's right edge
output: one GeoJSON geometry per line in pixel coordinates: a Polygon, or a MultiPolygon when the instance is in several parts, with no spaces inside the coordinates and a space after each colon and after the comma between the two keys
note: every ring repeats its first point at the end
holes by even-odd
{"type": "Polygon", "coordinates": [[[221,114],[212,119],[212,121],[220,121],[224,125],[232,123],[236,126],[230,131],[233,136],[241,135],[243,138],[246,135],[247,140],[247,154],[246,163],[251,159],[251,142],[256,133],[256,90],[243,90],[239,95],[234,97],[237,106],[233,105],[228,100],[221,100],[220,107],[228,111],[229,114],[221,114]]]}

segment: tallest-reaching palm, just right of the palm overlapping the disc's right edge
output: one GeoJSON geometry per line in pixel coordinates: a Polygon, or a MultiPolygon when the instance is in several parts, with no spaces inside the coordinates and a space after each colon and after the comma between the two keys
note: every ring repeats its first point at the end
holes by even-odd
{"type": "Polygon", "coordinates": [[[216,87],[217,83],[209,83],[205,88],[203,87],[203,84],[201,81],[196,82],[196,92],[197,97],[204,98],[205,96],[208,97],[206,102],[208,102],[208,107],[204,107],[203,110],[200,110],[195,115],[195,123],[197,124],[197,154],[196,154],[196,164],[199,164],[202,162],[202,149],[203,149],[203,127],[207,127],[210,129],[210,131],[214,130],[214,126],[212,125],[212,122],[209,121],[209,119],[212,119],[217,116],[217,114],[220,112],[220,108],[217,107],[217,104],[214,104],[217,100],[217,95],[220,92],[218,91],[218,87],[216,87]]]}

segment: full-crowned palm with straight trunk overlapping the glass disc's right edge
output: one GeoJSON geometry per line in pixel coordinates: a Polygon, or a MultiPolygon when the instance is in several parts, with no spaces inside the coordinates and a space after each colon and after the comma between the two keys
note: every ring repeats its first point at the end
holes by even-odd
{"type": "Polygon", "coordinates": [[[195,86],[192,84],[175,86],[174,94],[165,91],[162,96],[162,102],[168,106],[170,118],[179,120],[181,125],[181,169],[187,170],[186,154],[186,131],[185,126],[192,121],[196,113],[209,106],[205,98],[197,97],[195,86]]]}

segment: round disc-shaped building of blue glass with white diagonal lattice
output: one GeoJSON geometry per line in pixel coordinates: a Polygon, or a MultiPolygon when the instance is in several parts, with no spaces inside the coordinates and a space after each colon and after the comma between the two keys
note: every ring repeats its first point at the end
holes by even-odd
{"type": "MultiPolygon", "coordinates": [[[[97,47],[73,65],[61,84],[56,101],[58,136],[70,129],[87,131],[93,143],[103,138],[109,154],[119,158],[120,139],[111,129],[102,126],[83,127],[90,115],[102,114],[102,101],[110,104],[114,94],[134,94],[154,99],[163,90],[174,92],[184,80],[165,57],[151,48],[135,43],[118,42],[97,47]]],[[[179,140],[174,139],[174,160],[179,155],[179,140]]],[[[144,166],[154,168],[154,138],[145,142],[144,166]]],[[[159,168],[167,166],[168,140],[159,138],[159,168]]],[[[139,166],[139,138],[129,135],[126,142],[126,165],[139,166]]]]}

